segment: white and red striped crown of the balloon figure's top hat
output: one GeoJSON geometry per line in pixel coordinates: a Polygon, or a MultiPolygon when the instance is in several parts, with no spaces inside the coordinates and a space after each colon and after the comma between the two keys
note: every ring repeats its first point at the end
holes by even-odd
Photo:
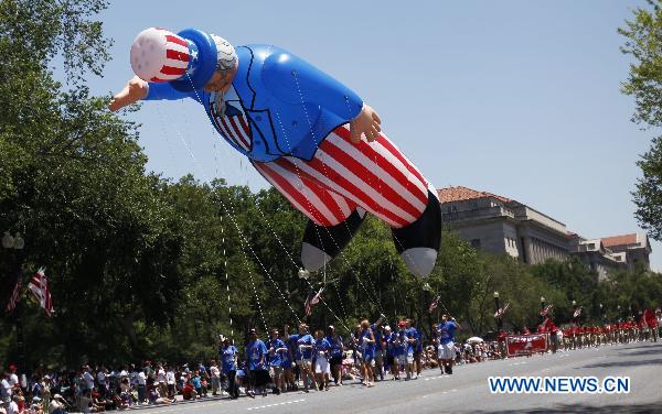
{"type": "Polygon", "coordinates": [[[189,67],[192,42],[160,28],[146,29],[131,44],[131,68],[142,80],[170,81],[189,67]]]}

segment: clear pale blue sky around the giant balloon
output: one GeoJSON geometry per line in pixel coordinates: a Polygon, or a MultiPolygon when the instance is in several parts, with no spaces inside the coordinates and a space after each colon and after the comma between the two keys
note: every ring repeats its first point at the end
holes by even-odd
{"type": "MultiPolygon", "coordinates": [[[[132,76],[143,29],[196,28],[309,61],[377,110],[386,134],[437,187],[516,199],[586,238],[642,231],[631,192],[655,131],[620,92],[630,57],[617,33],[644,1],[111,1],[113,61],[95,94],[132,76]],[[177,7],[175,7],[177,4],[177,7]]],[[[146,102],[148,168],[265,188],[193,101],[146,102]]],[[[662,270],[662,243],[652,266],[662,270]]]]}

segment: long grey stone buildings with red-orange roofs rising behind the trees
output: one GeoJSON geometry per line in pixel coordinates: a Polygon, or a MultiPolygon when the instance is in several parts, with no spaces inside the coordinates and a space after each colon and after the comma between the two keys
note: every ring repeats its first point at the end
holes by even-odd
{"type": "Polygon", "coordinates": [[[457,186],[438,190],[444,225],[473,248],[506,253],[524,263],[577,257],[600,279],[616,269],[649,268],[651,247],[645,235],[586,239],[520,201],[457,186]]]}

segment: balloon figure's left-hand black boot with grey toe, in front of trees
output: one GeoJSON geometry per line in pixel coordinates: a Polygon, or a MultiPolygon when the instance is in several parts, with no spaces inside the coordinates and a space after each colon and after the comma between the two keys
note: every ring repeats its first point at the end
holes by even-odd
{"type": "Polygon", "coordinates": [[[333,260],[352,240],[364,217],[365,210],[357,207],[343,222],[335,226],[323,227],[309,219],[301,243],[303,269],[316,272],[333,260]]]}

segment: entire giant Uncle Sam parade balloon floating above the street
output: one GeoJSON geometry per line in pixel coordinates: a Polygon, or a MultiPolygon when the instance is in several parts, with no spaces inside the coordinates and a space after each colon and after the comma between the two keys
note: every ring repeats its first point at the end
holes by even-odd
{"type": "Polygon", "coordinates": [[[306,270],[337,257],[367,211],[388,224],[407,268],[430,274],[441,237],[436,190],[353,90],[277,46],[235,48],[196,29],[147,29],[130,58],[137,76],[109,108],[141,99],[202,103],[225,141],[309,218],[306,270]]]}

